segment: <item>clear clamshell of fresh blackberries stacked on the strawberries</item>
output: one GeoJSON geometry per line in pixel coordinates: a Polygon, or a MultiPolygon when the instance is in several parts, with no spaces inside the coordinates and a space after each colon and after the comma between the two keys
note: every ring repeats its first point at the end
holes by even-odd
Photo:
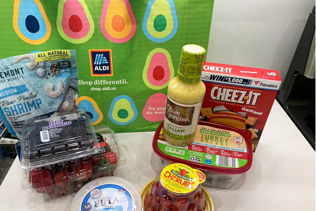
{"type": "Polygon", "coordinates": [[[83,110],[26,120],[21,145],[22,169],[65,162],[100,150],[90,117],[83,110]]]}

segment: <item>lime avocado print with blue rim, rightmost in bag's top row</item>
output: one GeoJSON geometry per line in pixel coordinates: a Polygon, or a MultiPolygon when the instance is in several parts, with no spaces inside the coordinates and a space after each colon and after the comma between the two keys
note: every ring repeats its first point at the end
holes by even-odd
{"type": "Polygon", "coordinates": [[[142,21],[146,37],[153,42],[171,39],[178,29],[175,4],[172,0],[150,0],[142,21]]]}

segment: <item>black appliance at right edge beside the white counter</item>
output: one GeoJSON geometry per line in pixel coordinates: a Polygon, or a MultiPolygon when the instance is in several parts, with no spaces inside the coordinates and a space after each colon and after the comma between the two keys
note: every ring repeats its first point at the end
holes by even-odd
{"type": "Polygon", "coordinates": [[[315,7],[308,16],[277,100],[315,150],[315,7]]]}

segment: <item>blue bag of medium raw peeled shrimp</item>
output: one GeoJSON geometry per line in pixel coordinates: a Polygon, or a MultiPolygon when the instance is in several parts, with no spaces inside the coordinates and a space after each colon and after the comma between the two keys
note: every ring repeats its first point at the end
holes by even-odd
{"type": "Polygon", "coordinates": [[[75,50],[51,50],[0,60],[0,118],[21,137],[25,120],[77,108],[75,50]]]}

